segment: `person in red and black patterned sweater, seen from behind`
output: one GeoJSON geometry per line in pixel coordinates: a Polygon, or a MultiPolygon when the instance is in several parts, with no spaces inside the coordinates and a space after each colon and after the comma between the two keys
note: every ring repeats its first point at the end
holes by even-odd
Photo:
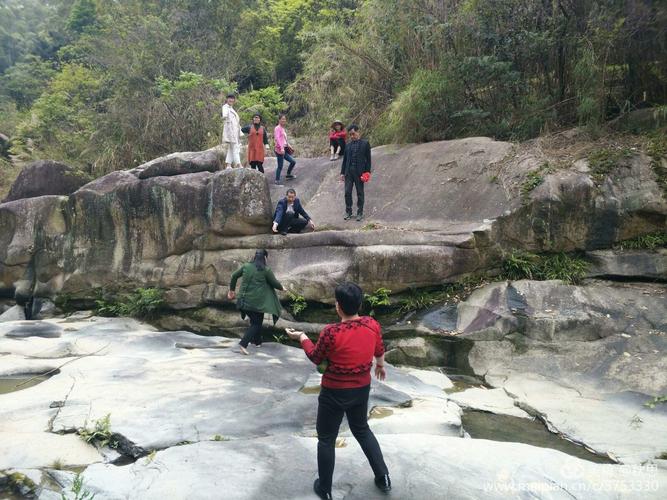
{"type": "Polygon", "coordinates": [[[382,450],[368,427],[368,396],[371,368],[375,357],[375,376],[384,380],[384,344],[380,324],[369,316],[359,316],[363,293],[354,283],[336,287],[336,312],[340,323],[328,325],[317,344],[303,332],[287,329],[293,340],[301,342],[306,356],[320,365],[326,361],[317,407],[317,469],[319,479],[313,488],[322,499],[331,498],[336,438],[347,415],[347,422],[375,474],[375,485],[391,490],[389,471],[382,450]]]}

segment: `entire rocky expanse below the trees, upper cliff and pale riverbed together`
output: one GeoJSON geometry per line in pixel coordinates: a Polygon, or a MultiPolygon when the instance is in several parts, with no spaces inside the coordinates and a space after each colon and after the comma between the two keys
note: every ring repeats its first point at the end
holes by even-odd
{"type": "MultiPolygon", "coordinates": [[[[314,368],[279,342],[234,350],[229,276],[263,247],[308,305],[266,340],[314,338],[343,280],[394,305],[425,294],[383,319],[394,366],[372,390],[394,498],[667,496],[666,160],[576,131],[373,157],[362,223],[341,217],[339,165],[299,159],[317,231],[287,237],[268,233],[285,189],[272,160],[266,176],[219,171],[216,149],[91,182],[25,169],[0,204],[2,494],[311,498],[314,368]],[[585,269],[504,279],[516,251],[577,252],[585,269]],[[163,294],[151,325],[82,312],[136,288],[163,294]]],[[[348,431],[339,446],[334,497],[376,498],[348,431]]]]}

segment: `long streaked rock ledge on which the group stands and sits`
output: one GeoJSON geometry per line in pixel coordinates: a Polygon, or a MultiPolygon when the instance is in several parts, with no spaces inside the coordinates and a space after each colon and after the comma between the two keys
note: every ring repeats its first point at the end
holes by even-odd
{"type": "Polygon", "coordinates": [[[290,186],[317,232],[286,237],[270,232],[285,194],[267,183],[274,160],[263,176],[217,171],[215,148],[174,153],[57,202],[0,205],[0,293],[91,301],[98,287],[159,287],[175,309],[219,306],[231,273],[266,248],[283,283],[330,303],[344,280],[398,293],[497,267],[508,247],[591,250],[664,229],[667,202],[641,152],[602,183],[576,168],[545,174],[522,199],[545,157],[519,149],[488,138],[376,148],[362,223],[342,219],[339,164],[299,159],[290,186]]]}

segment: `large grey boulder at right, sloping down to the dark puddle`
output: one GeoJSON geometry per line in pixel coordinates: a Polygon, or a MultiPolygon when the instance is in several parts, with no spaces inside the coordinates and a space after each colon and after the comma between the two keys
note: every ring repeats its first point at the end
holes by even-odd
{"type": "MultiPolygon", "coordinates": [[[[473,372],[553,432],[616,460],[667,449],[667,287],[495,283],[459,306],[473,372]]],[[[464,399],[455,401],[467,406],[464,399]]],[[[479,406],[479,403],[476,403],[479,406]]]]}

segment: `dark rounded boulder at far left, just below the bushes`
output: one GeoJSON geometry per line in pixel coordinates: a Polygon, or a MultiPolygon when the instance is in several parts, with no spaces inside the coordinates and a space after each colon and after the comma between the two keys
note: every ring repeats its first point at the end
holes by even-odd
{"type": "Polygon", "coordinates": [[[45,195],[69,195],[90,181],[74,167],[52,160],[26,165],[12,184],[4,202],[45,195]]]}

